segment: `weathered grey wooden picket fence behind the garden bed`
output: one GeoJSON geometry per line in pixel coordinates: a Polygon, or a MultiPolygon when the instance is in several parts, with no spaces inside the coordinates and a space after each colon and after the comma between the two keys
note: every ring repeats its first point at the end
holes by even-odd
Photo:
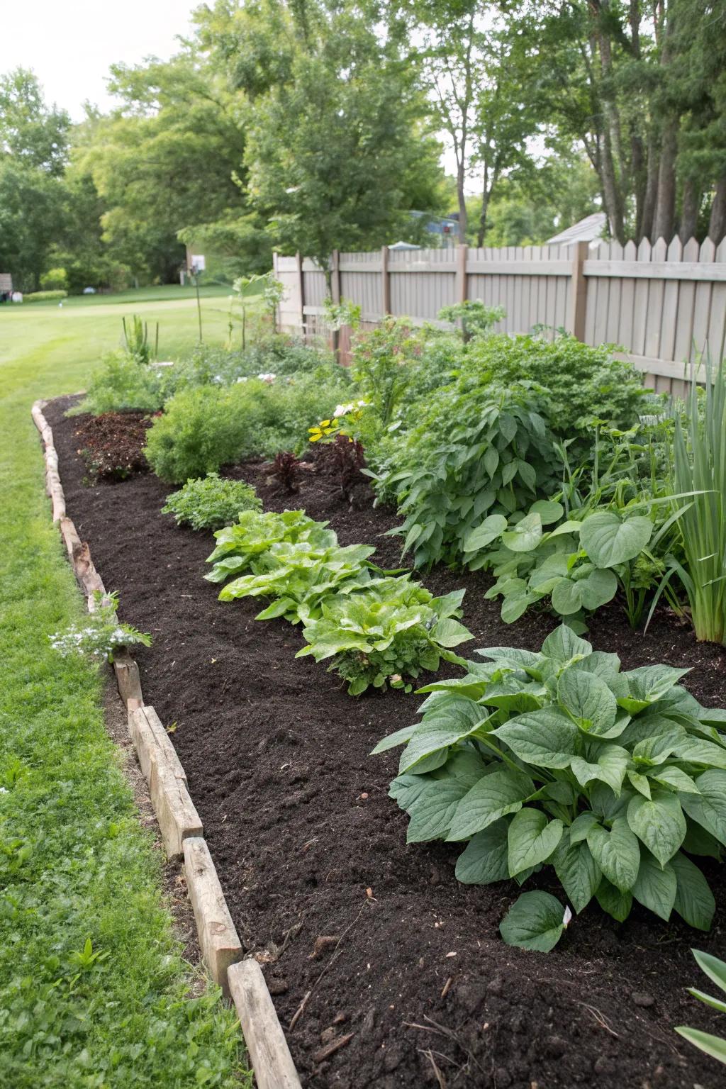
{"type": "MultiPolygon", "coordinates": [[[[285,286],[279,328],[308,339],[327,335],[322,269],[299,255],[275,254],[274,270],[285,286]]],[[[648,386],[677,395],[702,357],[726,355],[726,240],[718,247],[694,238],[682,245],[678,237],[669,245],[660,238],[638,246],[383,246],[334,253],[331,276],[333,301],[359,305],[362,328],[387,314],[435,322],[443,306],[479,298],[505,308],[500,331],[543,326],[566,329],[586,344],[616,344],[648,386]]],[[[348,346],[349,331],[342,330],[344,362],[348,346]]]]}

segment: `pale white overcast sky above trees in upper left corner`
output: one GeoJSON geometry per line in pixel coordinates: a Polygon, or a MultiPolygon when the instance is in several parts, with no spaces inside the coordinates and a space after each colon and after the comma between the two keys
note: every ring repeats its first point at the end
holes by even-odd
{"type": "Polygon", "coordinates": [[[74,121],[85,99],[108,109],[109,68],[165,59],[189,30],[195,0],[2,0],[0,73],[33,69],[46,99],[74,121]]]}

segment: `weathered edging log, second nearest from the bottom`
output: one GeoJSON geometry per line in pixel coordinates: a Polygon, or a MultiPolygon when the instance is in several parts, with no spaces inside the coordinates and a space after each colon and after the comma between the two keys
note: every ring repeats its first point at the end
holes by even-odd
{"type": "Polygon", "coordinates": [[[242,959],[242,943],[224,900],[207,841],[184,840],[184,872],[194,908],[201,957],[212,979],[230,996],[227,968],[242,959]]]}

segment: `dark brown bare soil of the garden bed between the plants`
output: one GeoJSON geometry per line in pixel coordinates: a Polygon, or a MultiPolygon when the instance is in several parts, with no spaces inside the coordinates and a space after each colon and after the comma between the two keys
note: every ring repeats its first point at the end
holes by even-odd
{"type": "MultiPolygon", "coordinates": [[[[211,535],[159,513],[168,489],[156,477],[83,486],[67,404],[46,412],[69,513],[106,586],[120,591],[122,616],[153,635],[137,656],[145,698],[175,723],[227,904],[286,1030],[305,1002],[287,1032],[304,1084],[723,1085],[723,1068],[673,1031],[724,1031],[723,1017],[719,1026],[685,990],[705,982],[692,945],[726,953],[723,868],[704,866],[718,904],[707,935],[638,906],[620,926],[593,902],[552,953],[506,946],[499,923],[518,890],[457,884],[455,846],[407,846],[406,817],[387,797],[397,757],[369,757],[380,737],[415,720],[419,699],[389,692],[354,700],[322,665],[295,659],[302,638],[290,624],[255,622],[259,602],[218,602],[201,578],[211,535]],[[343,1045],[325,1057],[330,1041],[343,1045]]],[[[381,536],[391,513],[360,490],[352,507],[331,472],[300,468],[292,501],[264,482],[269,465],[232,472],[258,487],[267,509],[303,506],[330,519],[342,543],[367,541],[380,562],[397,562],[395,539],[381,536]]],[[[554,624],[546,615],[502,624],[480,575],[434,571],[426,583],[466,586],[471,646],[536,649],[554,624]]],[[[614,604],[589,638],[626,669],[692,666],[690,690],[705,705],[726,703],[726,651],[697,644],[665,611],[643,635],[614,604]]]]}

